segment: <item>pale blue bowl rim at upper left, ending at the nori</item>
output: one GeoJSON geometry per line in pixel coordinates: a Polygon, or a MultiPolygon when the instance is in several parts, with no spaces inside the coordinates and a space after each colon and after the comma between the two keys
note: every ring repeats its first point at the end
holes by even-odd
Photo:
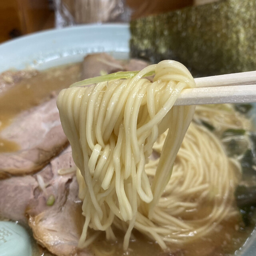
{"type": "Polygon", "coordinates": [[[92,24],[52,29],[0,44],[0,72],[10,68],[38,68],[82,60],[92,52],[128,55],[128,24],[92,24]]]}

